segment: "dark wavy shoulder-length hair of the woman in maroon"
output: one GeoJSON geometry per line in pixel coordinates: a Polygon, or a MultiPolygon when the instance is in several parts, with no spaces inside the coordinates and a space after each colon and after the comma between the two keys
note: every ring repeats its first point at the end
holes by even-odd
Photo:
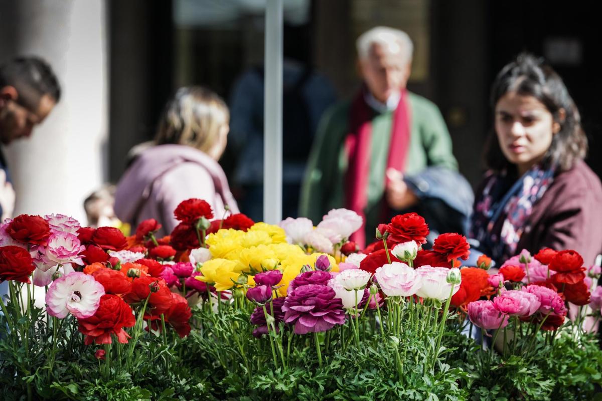
{"type": "MultiPolygon", "coordinates": [[[[576,161],[585,158],[588,139],[581,127],[579,110],[568,94],[562,78],[541,58],[523,53],[501,69],[491,88],[491,107],[494,112],[497,102],[509,92],[535,97],[545,105],[554,121],[560,124],[560,130],[554,134],[544,156],[545,164],[555,165],[559,171],[566,171],[576,161]]],[[[501,152],[495,128],[491,130],[486,142],[484,159],[485,165],[494,171],[512,166],[501,152]]]]}

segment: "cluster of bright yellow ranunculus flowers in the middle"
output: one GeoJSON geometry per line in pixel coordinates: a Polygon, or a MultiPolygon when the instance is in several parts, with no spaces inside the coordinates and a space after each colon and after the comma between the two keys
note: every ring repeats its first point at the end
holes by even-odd
{"type": "MultiPolygon", "coordinates": [[[[281,296],[287,295],[288,283],[295,278],[303,265],[315,268],[315,260],[321,254],[305,254],[298,245],[286,242],[285,231],[278,225],[258,222],[249,231],[219,230],[206,238],[213,259],[203,263],[197,280],[213,284],[217,291],[229,290],[234,286],[255,286],[253,275],[279,269],[282,281],[278,289],[281,296]]],[[[329,256],[332,271],[338,271],[335,259],[329,256]]]]}

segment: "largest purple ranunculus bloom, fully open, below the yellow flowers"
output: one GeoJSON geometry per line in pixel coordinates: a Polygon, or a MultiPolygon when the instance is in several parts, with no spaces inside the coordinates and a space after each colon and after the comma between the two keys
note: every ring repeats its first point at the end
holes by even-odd
{"type": "Polygon", "coordinates": [[[295,334],[327,331],[345,323],[345,311],[335,291],[319,284],[306,284],[289,292],[282,305],[284,321],[294,323],[295,334]]]}

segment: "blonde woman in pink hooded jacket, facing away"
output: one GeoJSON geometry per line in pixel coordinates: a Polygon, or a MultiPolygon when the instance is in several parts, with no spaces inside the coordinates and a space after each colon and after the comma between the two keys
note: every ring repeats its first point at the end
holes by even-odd
{"type": "Polygon", "coordinates": [[[169,234],[178,224],[173,210],[189,198],[211,204],[222,218],[225,206],[238,206],[222,167],[226,148],[228,107],[217,94],[202,87],[180,88],[166,106],[154,145],[143,150],[117,184],[115,213],[132,227],[154,218],[169,234]]]}

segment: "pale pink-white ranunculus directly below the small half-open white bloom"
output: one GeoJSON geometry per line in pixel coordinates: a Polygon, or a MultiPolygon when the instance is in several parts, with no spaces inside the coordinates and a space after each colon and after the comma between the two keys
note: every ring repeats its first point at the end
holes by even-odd
{"type": "Polygon", "coordinates": [[[387,296],[411,296],[421,285],[418,272],[402,262],[383,265],[376,269],[374,276],[387,296]]]}

